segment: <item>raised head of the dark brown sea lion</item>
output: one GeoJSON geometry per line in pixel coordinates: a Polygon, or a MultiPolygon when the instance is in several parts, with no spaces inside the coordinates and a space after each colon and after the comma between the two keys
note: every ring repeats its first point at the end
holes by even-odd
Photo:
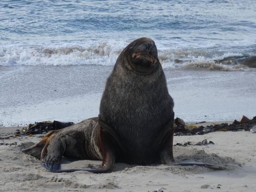
{"type": "Polygon", "coordinates": [[[142,74],[153,72],[160,62],[156,44],[146,37],[131,42],[121,53],[128,61],[128,68],[142,74]]]}

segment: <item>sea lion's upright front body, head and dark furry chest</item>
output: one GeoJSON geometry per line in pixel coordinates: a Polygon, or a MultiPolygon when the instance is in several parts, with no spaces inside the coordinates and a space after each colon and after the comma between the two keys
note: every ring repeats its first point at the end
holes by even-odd
{"type": "Polygon", "coordinates": [[[100,103],[103,161],[107,151],[111,163],[173,163],[173,106],[154,41],[131,42],[119,55],[100,103]]]}

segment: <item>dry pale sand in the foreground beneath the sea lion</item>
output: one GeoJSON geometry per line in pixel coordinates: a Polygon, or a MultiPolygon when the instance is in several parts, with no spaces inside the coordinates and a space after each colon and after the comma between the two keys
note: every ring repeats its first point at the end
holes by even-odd
{"type": "MultiPolygon", "coordinates": [[[[14,133],[16,127],[0,127],[0,137],[14,133]]],[[[255,137],[249,131],[215,132],[206,135],[175,136],[174,144],[204,139],[215,144],[208,146],[174,146],[174,159],[196,160],[226,166],[226,170],[212,170],[199,166],[137,166],[116,163],[113,172],[92,174],[88,172],[51,173],[40,161],[20,151],[20,147],[38,142],[40,135],[1,139],[0,143],[17,145],[0,146],[0,191],[118,191],[148,192],[241,192],[256,191],[255,137]],[[206,185],[204,189],[201,186],[206,185]]],[[[73,161],[63,159],[62,168],[83,168],[100,161],[73,161]]]]}

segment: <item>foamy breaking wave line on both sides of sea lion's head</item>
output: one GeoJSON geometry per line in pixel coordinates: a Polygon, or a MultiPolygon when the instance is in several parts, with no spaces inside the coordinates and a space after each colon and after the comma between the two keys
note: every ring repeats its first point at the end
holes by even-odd
{"type": "MultiPolygon", "coordinates": [[[[0,48],[0,65],[115,65],[125,41],[88,41],[85,44],[9,44],[0,48]]],[[[160,46],[163,67],[207,68],[210,70],[254,70],[256,56],[203,49],[169,49],[160,46]]]]}

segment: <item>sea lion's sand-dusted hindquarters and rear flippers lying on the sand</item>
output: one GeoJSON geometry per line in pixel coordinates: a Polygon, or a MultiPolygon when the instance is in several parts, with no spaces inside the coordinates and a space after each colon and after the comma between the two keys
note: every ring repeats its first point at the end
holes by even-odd
{"type": "Polygon", "coordinates": [[[37,144],[22,152],[41,159],[49,170],[58,170],[62,156],[72,159],[102,160],[98,143],[98,117],[64,129],[48,132],[37,144]]]}

